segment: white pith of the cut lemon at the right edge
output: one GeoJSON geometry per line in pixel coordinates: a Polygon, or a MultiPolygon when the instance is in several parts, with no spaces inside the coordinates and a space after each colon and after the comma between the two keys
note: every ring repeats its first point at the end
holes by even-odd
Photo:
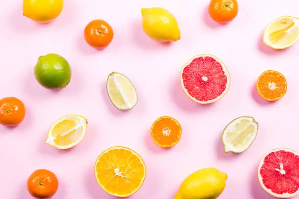
{"type": "MultiPolygon", "coordinates": [[[[285,49],[285,48],[287,48],[287,47],[293,45],[294,43],[296,43],[296,42],[299,40],[299,35],[298,35],[298,37],[297,37],[296,40],[294,40],[292,43],[290,43],[290,44],[288,44],[288,45],[286,45],[286,46],[282,46],[282,47],[280,47],[280,46],[278,46],[278,45],[275,45],[275,44],[273,44],[271,41],[268,40],[268,37],[267,37],[267,36],[268,36],[268,34],[267,34],[267,33],[268,33],[268,29],[271,27],[271,25],[272,25],[273,23],[275,23],[275,22],[277,22],[277,21],[279,21],[279,20],[282,20],[282,19],[292,19],[292,20],[294,21],[295,25],[294,25],[291,29],[295,28],[296,26],[297,26],[297,27],[299,26],[299,19],[294,18],[294,17],[291,17],[291,16],[282,16],[282,17],[277,18],[276,20],[271,21],[271,22],[267,25],[267,27],[265,28],[265,30],[264,30],[263,41],[264,41],[264,43],[265,43],[266,45],[268,45],[268,46],[270,46],[270,47],[272,47],[272,48],[274,48],[274,49],[285,49]]],[[[291,29],[289,29],[289,30],[287,30],[287,31],[290,32],[291,29]]]]}

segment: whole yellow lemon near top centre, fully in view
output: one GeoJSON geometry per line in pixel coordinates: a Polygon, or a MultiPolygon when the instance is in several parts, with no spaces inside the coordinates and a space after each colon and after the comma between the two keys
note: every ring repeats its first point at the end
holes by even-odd
{"type": "Polygon", "coordinates": [[[153,7],[141,9],[142,28],[144,32],[157,41],[177,41],[181,32],[174,16],[164,8],[153,7]]]}

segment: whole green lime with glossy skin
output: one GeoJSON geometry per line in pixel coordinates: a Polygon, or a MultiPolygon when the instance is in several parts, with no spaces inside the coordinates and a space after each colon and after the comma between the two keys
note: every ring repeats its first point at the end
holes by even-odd
{"type": "Polygon", "coordinates": [[[36,80],[45,88],[64,88],[71,79],[68,62],[57,54],[40,56],[34,68],[36,80]]]}

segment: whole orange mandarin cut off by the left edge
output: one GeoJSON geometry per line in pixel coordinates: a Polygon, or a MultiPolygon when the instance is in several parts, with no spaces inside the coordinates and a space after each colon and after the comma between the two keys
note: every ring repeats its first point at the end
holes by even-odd
{"type": "Polygon", "coordinates": [[[0,124],[17,126],[25,118],[25,107],[21,100],[13,97],[0,100],[0,124]]]}

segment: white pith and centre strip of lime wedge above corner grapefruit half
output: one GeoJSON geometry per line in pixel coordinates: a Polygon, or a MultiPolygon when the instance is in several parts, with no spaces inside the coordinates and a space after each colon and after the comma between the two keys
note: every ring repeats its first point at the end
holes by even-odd
{"type": "Polygon", "coordinates": [[[256,139],[257,130],[258,130],[258,124],[257,124],[256,120],[255,120],[254,118],[252,118],[252,117],[240,117],[240,118],[237,118],[237,119],[233,120],[231,123],[229,123],[229,124],[226,126],[226,128],[224,129],[223,134],[222,134],[222,141],[223,141],[223,144],[224,144],[224,151],[225,151],[226,153],[227,153],[227,152],[241,153],[241,152],[245,151],[245,150],[246,150],[246,149],[247,149],[247,148],[254,142],[254,140],[256,139]],[[231,129],[231,128],[235,128],[235,125],[236,125],[237,123],[239,123],[240,120],[244,120],[244,119],[249,120],[251,123],[250,123],[248,126],[246,126],[246,127],[242,130],[242,132],[240,132],[240,133],[238,134],[238,136],[237,136],[231,143],[227,143],[227,142],[226,142],[226,138],[227,138],[227,136],[228,136],[228,132],[234,131],[234,129],[231,129]],[[239,139],[239,138],[243,135],[243,133],[244,133],[249,127],[251,127],[251,125],[255,127],[254,136],[251,137],[251,139],[247,142],[247,144],[246,144],[245,146],[243,146],[243,148],[235,148],[234,145],[233,145],[233,144],[235,143],[235,141],[236,141],[237,139],[239,139]]]}

